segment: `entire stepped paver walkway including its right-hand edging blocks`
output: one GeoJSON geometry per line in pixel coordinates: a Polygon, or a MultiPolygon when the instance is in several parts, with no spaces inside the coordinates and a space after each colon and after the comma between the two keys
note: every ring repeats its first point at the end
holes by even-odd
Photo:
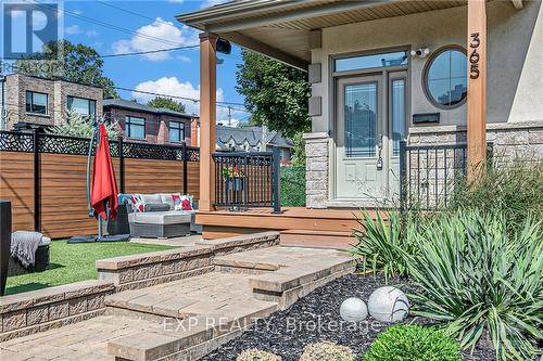
{"type": "Polygon", "coordinates": [[[279,246],[213,262],[220,271],[106,296],[108,315],[1,343],[0,359],[198,360],[353,269],[344,253],[279,246]]]}

